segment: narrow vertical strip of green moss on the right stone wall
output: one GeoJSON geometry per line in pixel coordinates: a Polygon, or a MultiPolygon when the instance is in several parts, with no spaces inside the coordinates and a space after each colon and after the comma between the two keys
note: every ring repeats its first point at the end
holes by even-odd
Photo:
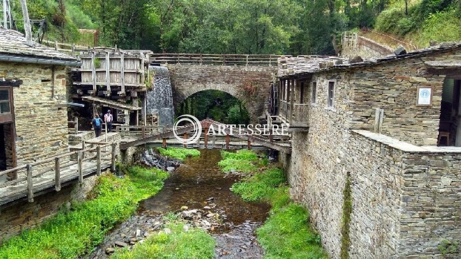
{"type": "Polygon", "coordinates": [[[343,190],[343,219],[341,226],[341,259],[349,259],[349,224],[350,215],[352,213],[352,190],[350,187],[350,176],[349,172],[346,176],[346,183],[344,184],[343,190]]]}

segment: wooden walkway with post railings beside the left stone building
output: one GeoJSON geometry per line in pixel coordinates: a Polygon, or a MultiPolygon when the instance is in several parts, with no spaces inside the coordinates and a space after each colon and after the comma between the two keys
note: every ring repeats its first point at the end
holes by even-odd
{"type": "Polygon", "coordinates": [[[82,150],[66,152],[61,155],[49,157],[33,163],[28,163],[0,172],[0,176],[14,173],[15,179],[0,184],[0,188],[14,186],[12,190],[0,190],[1,204],[7,202],[9,195],[17,196],[18,193],[27,190],[27,197],[30,202],[34,201],[34,193],[49,187],[56,191],[61,189],[61,182],[78,178],[83,182],[84,172],[96,172],[101,174],[101,167],[110,165],[112,171],[115,170],[115,143],[93,142],[92,147],[82,150]],[[110,147],[110,148],[109,148],[110,147]],[[77,160],[72,159],[77,154],[77,160]],[[110,161],[110,162],[109,162],[110,161]],[[96,170],[94,168],[96,167],[96,170]],[[41,178],[45,174],[46,177],[41,178]],[[50,177],[54,174],[54,178],[50,177]],[[41,181],[43,180],[43,181],[41,181]],[[36,186],[35,186],[36,185],[36,186]],[[40,190],[37,190],[40,189],[40,190]]]}

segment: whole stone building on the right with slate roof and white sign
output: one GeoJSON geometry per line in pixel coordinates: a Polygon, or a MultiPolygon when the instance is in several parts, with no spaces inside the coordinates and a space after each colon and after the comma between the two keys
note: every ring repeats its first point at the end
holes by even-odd
{"type": "Polygon", "coordinates": [[[460,79],[461,44],[280,59],[270,103],[293,132],[290,194],[331,258],[459,258],[460,79]]]}

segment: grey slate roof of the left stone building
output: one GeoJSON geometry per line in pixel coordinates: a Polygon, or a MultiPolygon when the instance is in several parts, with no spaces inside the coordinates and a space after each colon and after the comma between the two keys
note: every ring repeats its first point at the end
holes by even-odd
{"type": "Polygon", "coordinates": [[[0,55],[45,58],[49,60],[77,61],[76,57],[58,52],[53,48],[35,43],[28,46],[24,35],[15,30],[0,28],[0,55]]]}

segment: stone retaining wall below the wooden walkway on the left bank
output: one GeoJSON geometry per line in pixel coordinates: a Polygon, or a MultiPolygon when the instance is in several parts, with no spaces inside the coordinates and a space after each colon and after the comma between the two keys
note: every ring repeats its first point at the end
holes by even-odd
{"type": "Polygon", "coordinates": [[[17,201],[0,207],[0,243],[18,235],[21,231],[33,228],[53,217],[63,206],[71,201],[83,201],[97,182],[97,176],[83,179],[83,183],[63,186],[59,192],[54,190],[35,196],[34,202],[17,201]]]}

